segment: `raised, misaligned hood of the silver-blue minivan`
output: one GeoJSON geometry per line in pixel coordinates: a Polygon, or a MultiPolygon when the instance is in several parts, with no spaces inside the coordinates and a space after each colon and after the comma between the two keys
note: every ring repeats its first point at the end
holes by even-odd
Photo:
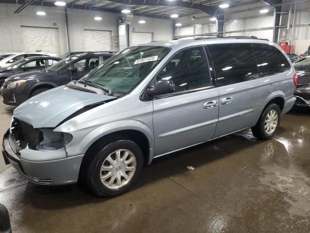
{"type": "Polygon", "coordinates": [[[60,86],[25,101],[14,110],[14,116],[33,128],[54,128],[82,107],[111,99],[116,98],[60,86]]]}

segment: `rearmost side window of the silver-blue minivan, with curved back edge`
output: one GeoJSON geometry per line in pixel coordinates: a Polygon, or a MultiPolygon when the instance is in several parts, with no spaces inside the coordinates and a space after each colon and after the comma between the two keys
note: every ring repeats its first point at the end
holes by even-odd
{"type": "Polygon", "coordinates": [[[252,44],[260,76],[269,76],[291,69],[290,63],[284,54],[273,45],[252,44]]]}

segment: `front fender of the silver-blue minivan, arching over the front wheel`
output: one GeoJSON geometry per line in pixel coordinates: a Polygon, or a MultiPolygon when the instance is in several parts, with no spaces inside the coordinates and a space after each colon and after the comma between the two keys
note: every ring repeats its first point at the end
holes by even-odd
{"type": "MultiPolygon", "coordinates": [[[[68,156],[75,156],[78,154],[85,154],[86,151],[90,148],[90,146],[97,141],[99,138],[108,135],[109,133],[117,133],[122,130],[136,130],[140,133],[143,133],[150,145],[150,152],[149,152],[149,158],[150,161],[152,161],[154,156],[154,148],[155,148],[155,142],[154,142],[154,133],[153,130],[148,127],[146,124],[144,124],[141,121],[138,120],[122,120],[122,121],[115,121],[111,122],[105,125],[102,125],[97,128],[91,128],[91,131],[89,131],[86,136],[80,138],[78,134],[83,134],[81,131],[84,130],[78,130],[76,132],[69,132],[73,135],[73,140],[66,146],[66,150],[68,153],[68,156]]],[[[85,135],[85,134],[83,134],[85,135]]]]}

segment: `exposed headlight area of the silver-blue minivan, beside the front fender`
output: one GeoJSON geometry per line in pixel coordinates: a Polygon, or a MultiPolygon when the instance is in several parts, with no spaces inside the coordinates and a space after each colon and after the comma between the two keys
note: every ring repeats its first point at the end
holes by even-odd
{"type": "Polygon", "coordinates": [[[70,133],[54,132],[52,129],[40,129],[43,138],[37,142],[36,150],[59,150],[72,140],[70,133]]]}

